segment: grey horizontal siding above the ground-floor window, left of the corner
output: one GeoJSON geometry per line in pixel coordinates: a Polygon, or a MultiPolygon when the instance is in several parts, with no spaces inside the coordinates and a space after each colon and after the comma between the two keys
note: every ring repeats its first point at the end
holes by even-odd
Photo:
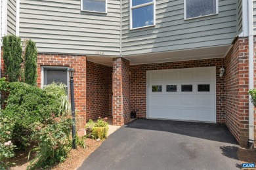
{"type": "Polygon", "coordinates": [[[45,53],[119,56],[120,3],[108,13],[81,12],[80,0],[20,1],[20,37],[45,53]]]}

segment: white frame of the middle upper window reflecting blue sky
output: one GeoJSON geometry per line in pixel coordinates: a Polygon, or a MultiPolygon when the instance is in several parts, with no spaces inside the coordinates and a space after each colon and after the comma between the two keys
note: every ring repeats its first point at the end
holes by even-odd
{"type": "Polygon", "coordinates": [[[150,3],[144,3],[144,4],[140,4],[140,5],[136,5],[133,7],[133,0],[130,0],[130,30],[134,30],[134,29],[142,29],[144,27],[154,27],[156,26],[156,0],[153,0],[153,2],[150,2],[150,3]],[[146,7],[148,5],[153,5],[153,12],[154,12],[154,23],[152,25],[146,25],[146,26],[143,26],[143,27],[135,27],[133,28],[133,9],[138,9],[140,7],[146,7]]]}

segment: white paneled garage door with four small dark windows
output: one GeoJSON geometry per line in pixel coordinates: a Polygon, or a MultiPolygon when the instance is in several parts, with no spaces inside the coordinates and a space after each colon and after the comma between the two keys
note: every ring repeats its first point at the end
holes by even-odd
{"type": "Polygon", "coordinates": [[[147,117],[215,122],[215,67],[147,72],[147,117]]]}

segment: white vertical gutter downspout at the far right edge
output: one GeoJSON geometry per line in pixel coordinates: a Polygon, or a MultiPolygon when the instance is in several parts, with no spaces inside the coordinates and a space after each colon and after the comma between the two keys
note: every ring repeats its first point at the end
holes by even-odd
{"type": "MultiPolygon", "coordinates": [[[[248,0],[248,46],[249,46],[249,89],[254,88],[254,76],[253,76],[253,0],[248,0]]],[[[254,146],[254,131],[253,131],[253,103],[251,103],[251,96],[249,95],[249,140],[247,143],[248,148],[254,146]]]]}

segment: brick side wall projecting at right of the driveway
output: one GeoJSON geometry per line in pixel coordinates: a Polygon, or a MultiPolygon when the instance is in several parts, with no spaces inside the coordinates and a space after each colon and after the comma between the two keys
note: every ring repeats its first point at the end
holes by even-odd
{"type": "MultiPolygon", "coordinates": [[[[255,48],[256,50],[256,48],[255,48]]],[[[248,39],[239,38],[225,58],[226,126],[241,146],[248,141],[249,116],[248,39]]],[[[254,116],[255,117],[255,116],[254,116]]],[[[256,134],[255,134],[256,135],[256,134]]],[[[256,137],[255,137],[256,139],[256,137]]]]}

